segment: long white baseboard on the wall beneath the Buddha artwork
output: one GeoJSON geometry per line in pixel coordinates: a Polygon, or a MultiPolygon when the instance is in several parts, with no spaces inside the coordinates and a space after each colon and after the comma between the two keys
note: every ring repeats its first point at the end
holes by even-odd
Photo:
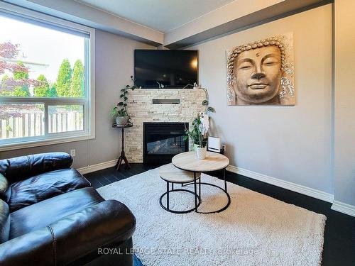
{"type": "Polygon", "coordinates": [[[300,184],[295,184],[293,182],[288,182],[282,179],[278,179],[275,177],[269,177],[266,174],[259,174],[257,172],[252,172],[240,167],[236,167],[233,165],[229,165],[226,168],[227,171],[234,172],[236,174],[241,174],[246,177],[251,177],[253,179],[259,180],[261,182],[266,182],[268,184],[273,184],[274,186],[277,187],[282,187],[283,189],[288,189],[293,192],[297,192],[300,194],[304,194],[307,196],[312,196],[315,199],[321,199],[322,201],[327,201],[332,203],[334,201],[334,195],[329,194],[327,192],[322,192],[317,189],[311,189],[310,187],[305,187],[300,184]]]}

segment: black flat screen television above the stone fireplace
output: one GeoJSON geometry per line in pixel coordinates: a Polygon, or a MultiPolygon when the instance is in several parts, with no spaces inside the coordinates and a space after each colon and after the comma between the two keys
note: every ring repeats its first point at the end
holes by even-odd
{"type": "Polygon", "coordinates": [[[143,89],[192,89],[198,84],[197,50],[134,50],[134,79],[143,89]]]}

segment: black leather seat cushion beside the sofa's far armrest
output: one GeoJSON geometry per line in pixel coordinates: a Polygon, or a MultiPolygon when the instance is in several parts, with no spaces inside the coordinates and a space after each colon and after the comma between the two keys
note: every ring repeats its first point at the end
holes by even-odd
{"type": "Polygon", "coordinates": [[[10,211],[13,212],[53,196],[90,186],[80,172],[66,168],[38,174],[11,184],[9,192],[6,193],[6,201],[10,211]]]}

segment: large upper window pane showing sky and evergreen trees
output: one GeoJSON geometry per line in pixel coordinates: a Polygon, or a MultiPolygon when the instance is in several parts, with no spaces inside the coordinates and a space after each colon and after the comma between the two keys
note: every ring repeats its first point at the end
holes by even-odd
{"type": "Polygon", "coordinates": [[[0,96],[84,97],[84,37],[1,15],[0,25],[0,96]]]}

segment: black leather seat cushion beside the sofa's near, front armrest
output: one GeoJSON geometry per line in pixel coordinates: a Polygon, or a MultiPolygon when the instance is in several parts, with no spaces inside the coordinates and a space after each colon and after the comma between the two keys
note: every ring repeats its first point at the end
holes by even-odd
{"type": "Polygon", "coordinates": [[[104,199],[94,188],[86,187],[19,209],[11,214],[9,239],[48,226],[102,201],[104,199]]]}

